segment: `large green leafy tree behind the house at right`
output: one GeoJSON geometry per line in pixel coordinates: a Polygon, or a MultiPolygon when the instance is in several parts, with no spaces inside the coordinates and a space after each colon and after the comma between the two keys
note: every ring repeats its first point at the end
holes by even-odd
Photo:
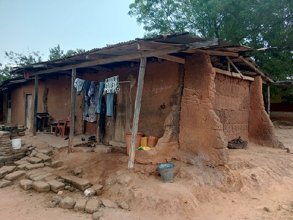
{"type": "Polygon", "coordinates": [[[292,0],[135,0],[129,9],[145,37],[188,31],[255,48],[276,46],[251,55],[275,80],[293,79],[292,0]]]}

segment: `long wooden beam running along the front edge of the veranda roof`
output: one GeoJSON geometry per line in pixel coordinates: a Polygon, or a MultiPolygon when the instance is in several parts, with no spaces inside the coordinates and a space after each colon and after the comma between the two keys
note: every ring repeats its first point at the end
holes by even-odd
{"type": "Polygon", "coordinates": [[[159,56],[159,55],[164,55],[164,54],[168,54],[168,53],[176,53],[176,52],[180,52],[180,51],[184,51],[184,50],[188,50],[188,49],[214,46],[214,45],[219,45],[219,44],[220,44],[219,39],[212,39],[212,40],[200,41],[200,42],[196,42],[196,43],[192,43],[192,44],[173,46],[173,47],[169,47],[169,48],[165,48],[165,49],[161,49],[161,50],[151,50],[151,51],[145,51],[145,52],[133,51],[133,53],[128,54],[128,55],[114,56],[114,57],[105,58],[105,59],[101,59],[101,60],[95,60],[95,61],[84,62],[84,63],[80,63],[80,64],[55,67],[55,68],[51,68],[51,69],[36,71],[36,72],[30,73],[30,76],[44,74],[44,73],[50,73],[50,72],[57,72],[60,70],[67,70],[67,69],[72,69],[72,68],[82,68],[82,67],[88,67],[88,66],[109,64],[109,63],[114,63],[114,62],[121,62],[121,61],[126,61],[126,60],[131,60],[131,59],[137,59],[137,58],[159,56]]]}

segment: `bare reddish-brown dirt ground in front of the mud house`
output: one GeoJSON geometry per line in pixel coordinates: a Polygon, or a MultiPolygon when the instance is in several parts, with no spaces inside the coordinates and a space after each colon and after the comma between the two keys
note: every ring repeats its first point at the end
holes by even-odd
{"type": "MultiPolygon", "coordinates": [[[[293,153],[293,126],[275,123],[275,132],[293,153]]],[[[40,148],[45,147],[42,143],[40,148]]],[[[229,164],[218,168],[172,161],[172,183],[161,181],[156,165],[134,164],[129,172],[128,156],[121,148],[110,154],[67,154],[64,149],[54,151],[52,159],[65,164],[55,173],[68,175],[82,167],[83,178],[104,186],[100,198],[130,206],[130,211],[109,210],[105,220],[293,220],[293,154],[253,143],[230,149],[229,154],[229,164]]],[[[47,208],[54,195],[24,191],[17,182],[0,188],[0,219],[91,219],[87,213],[47,208]]],[[[64,191],[61,197],[66,196],[83,198],[81,192],[64,191]]]]}

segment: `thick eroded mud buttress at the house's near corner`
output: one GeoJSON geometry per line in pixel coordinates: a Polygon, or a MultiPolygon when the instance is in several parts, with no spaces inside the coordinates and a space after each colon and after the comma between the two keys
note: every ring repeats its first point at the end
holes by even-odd
{"type": "Polygon", "coordinates": [[[179,145],[185,162],[211,167],[229,160],[223,125],[213,110],[215,71],[209,55],[195,53],[186,59],[181,99],[179,145]]]}

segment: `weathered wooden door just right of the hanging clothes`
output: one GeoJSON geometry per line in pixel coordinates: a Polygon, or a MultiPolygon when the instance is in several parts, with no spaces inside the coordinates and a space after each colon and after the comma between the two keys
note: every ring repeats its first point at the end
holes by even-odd
{"type": "Polygon", "coordinates": [[[115,95],[113,140],[126,142],[130,130],[130,82],[120,82],[120,92],[115,95]]]}

